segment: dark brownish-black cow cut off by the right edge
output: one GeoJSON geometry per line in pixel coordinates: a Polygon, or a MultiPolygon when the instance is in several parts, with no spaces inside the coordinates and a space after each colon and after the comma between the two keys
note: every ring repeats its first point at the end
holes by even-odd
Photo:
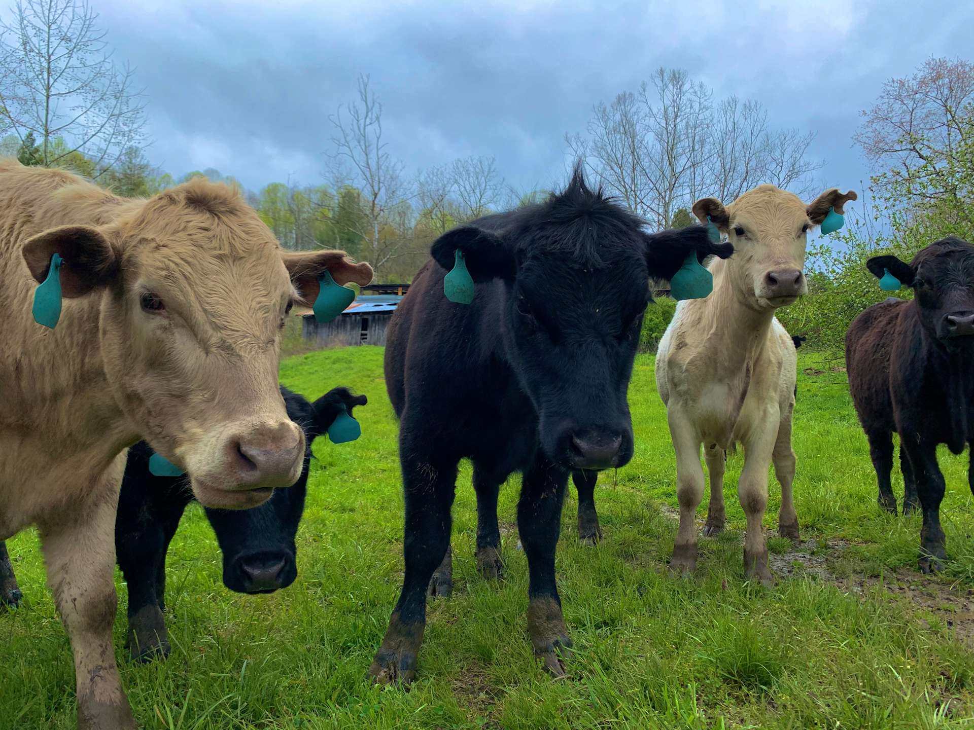
{"type": "MultiPolygon", "coordinates": [[[[947,237],[910,264],[876,256],[866,265],[880,278],[892,274],[916,294],[912,301],[887,299],[857,316],[845,334],[845,362],[876,467],[880,506],[893,514],[889,472],[892,433],[899,433],[903,512],[919,502],[919,566],[929,572],[946,557],[937,445],[960,454],[974,440],[974,246],[947,237]]],[[[974,460],[968,481],[974,492],[974,460]]]]}

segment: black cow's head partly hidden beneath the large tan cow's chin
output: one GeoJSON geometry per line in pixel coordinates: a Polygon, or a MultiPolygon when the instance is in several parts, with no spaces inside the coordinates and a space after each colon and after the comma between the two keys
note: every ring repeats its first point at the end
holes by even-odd
{"type": "Polygon", "coordinates": [[[351,415],[367,401],[344,387],[329,390],[308,403],[281,387],[287,415],[305,433],[304,465],[293,487],[275,490],[264,504],[247,510],[207,509],[206,517],[216,532],[223,553],[223,584],[238,593],[274,593],[297,577],[294,536],[304,512],[308,492],[311,445],[323,434],[344,407],[351,415]]]}

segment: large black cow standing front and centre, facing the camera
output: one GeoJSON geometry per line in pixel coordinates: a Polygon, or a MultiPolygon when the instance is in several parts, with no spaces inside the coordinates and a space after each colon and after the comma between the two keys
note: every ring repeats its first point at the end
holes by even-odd
{"type": "Polygon", "coordinates": [[[501,569],[497,498],[523,474],[517,523],[530,572],[528,631],[546,669],[563,675],[571,645],[554,555],[568,475],[632,456],[626,388],[650,277],[689,255],[729,256],[701,227],[643,232],[644,222],[590,190],[576,169],[543,203],[490,215],[432,244],[389,326],[386,383],[400,419],[405,576],[369,672],[409,682],[426,626],[427,592],[448,592],[457,464],[473,461],[476,560],[501,569]],[[472,304],[444,296],[461,251],[472,304]],[[442,564],[442,565],[441,565],[442,564]]]}

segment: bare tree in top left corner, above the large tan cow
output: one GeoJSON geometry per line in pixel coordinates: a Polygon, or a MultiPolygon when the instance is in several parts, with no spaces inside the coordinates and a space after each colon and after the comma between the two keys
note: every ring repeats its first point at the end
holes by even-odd
{"type": "Polygon", "coordinates": [[[36,139],[40,163],[81,153],[97,176],[144,142],[144,103],[87,0],[18,0],[0,22],[0,124],[36,139]]]}

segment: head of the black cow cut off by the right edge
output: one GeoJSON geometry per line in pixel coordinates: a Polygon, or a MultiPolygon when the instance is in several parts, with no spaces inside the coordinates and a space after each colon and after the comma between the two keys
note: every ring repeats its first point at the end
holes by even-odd
{"type": "Polygon", "coordinates": [[[882,278],[888,271],[916,294],[923,328],[949,347],[974,343],[974,246],[942,238],[910,264],[895,256],[874,256],[866,266],[882,278]]]}

